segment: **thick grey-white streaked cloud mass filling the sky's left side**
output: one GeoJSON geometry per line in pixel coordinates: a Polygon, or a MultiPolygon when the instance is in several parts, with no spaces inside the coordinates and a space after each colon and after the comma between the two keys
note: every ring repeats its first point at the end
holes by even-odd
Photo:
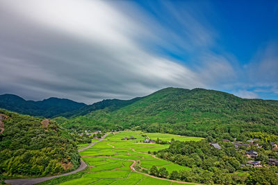
{"type": "Polygon", "coordinates": [[[8,79],[0,82],[10,93],[92,103],[169,86],[205,87],[188,67],[142,49],[131,33],[144,35],[144,27],[104,1],[1,1],[1,6],[14,15],[9,21],[0,17],[5,24],[0,71],[8,79]]]}

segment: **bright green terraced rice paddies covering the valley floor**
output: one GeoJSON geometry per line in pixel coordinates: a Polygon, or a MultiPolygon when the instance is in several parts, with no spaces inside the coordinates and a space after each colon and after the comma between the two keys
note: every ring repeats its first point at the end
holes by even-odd
{"type": "MultiPolygon", "coordinates": [[[[165,167],[169,173],[173,170],[189,170],[190,168],[172,164],[170,161],[158,159],[148,152],[154,152],[168,148],[169,145],[160,145],[156,143],[142,143],[146,135],[149,139],[156,140],[157,138],[163,141],[171,141],[171,139],[179,141],[199,141],[202,138],[179,136],[174,134],[161,134],[161,133],[142,133],[141,131],[124,131],[109,134],[106,140],[101,141],[92,148],[88,148],[80,155],[88,164],[88,168],[82,175],[76,177],[65,178],[58,181],[58,184],[113,184],[113,185],[170,185],[180,184],[172,182],[169,179],[159,179],[152,177],[142,170],[150,170],[152,166],[157,168],[165,167]],[[124,137],[130,138],[133,136],[135,139],[127,141],[122,140],[124,137]],[[80,177],[81,176],[81,177],[80,177]]],[[[87,145],[79,146],[79,148],[87,145]]],[[[54,180],[51,180],[55,184],[54,180]]]]}

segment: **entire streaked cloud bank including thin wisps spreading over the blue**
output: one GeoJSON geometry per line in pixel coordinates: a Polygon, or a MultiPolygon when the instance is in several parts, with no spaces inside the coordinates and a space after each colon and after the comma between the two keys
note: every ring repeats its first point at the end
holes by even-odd
{"type": "MultiPolygon", "coordinates": [[[[129,11],[113,1],[1,1],[0,94],[93,103],[145,96],[164,87],[234,86],[237,61],[211,50],[218,33],[200,14],[188,10],[181,16],[181,10],[163,4],[177,21],[171,25],[167,17],[159,22],[121,3],[129,11]],[[183,32],[171,29],[174,25],[183,32]],[[165,55],[165,49],[196,57],[187,56],[186,64],[165,55]]],[[[262,56],[263,71],[273,69],[270,53],[262,56]]],[[[271,76],[278,79],[277,73],[271,76]]]]}

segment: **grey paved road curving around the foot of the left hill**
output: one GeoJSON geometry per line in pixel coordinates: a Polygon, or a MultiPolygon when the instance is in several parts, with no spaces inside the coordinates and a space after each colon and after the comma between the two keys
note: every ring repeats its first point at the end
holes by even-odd
{"type": "MultiPolygon", "coordinates": [[[[86,149],[94,146],[96,143],[99,143],[100,141],[103,141],[104,138],[108,134],[110,134],[110,132],[105,134],[101,139],[99,139],[99,141],[95,141],[94,143],[91,143],[90,146],[86,146],[85,148],[81,148],[79,150],[79,152],[82,152],[83,150],[86,150],[86,149]]],[[[62,175],[55,175],[55,176],[51,176],[51,177],[38,177],[38,178],[31,178],[31,179],[8,179],[5,182],[7,184],[11,184],[11,185],[32,185],[32,184],[38,184],[40,182],[44,182],[44,181],[47,181],[49,179],[54,179],[56,177],[62,177],[62,176],[78,173],[78,172],[84,170],[86,167],[87,167],[87,164],[85,164],[85,162],[83,162],[81,160],[81,164],[80,164],[79,168],[77,168],[76,170],[74,170],[74,171],[72,171],[70,173],[65,173],[65,174],[62,174],[62,175]]]]}

